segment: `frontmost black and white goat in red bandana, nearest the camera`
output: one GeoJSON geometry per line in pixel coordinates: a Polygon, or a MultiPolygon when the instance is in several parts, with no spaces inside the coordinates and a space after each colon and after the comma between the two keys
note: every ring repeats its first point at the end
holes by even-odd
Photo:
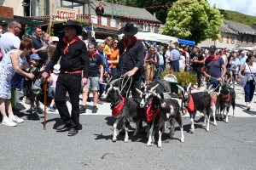
{"type": "Polygon", "coordinates": [[[175,129],[174,119],[181,128],[181,142],[184,142],[183,122],[177,100],[164,99],[164,94],[154,92],[154,88],[151,88],[148,92],[143,93],[139,91],[139,93],[143,96],[140,106],[144,108],[145,116],[147,114],[154,116],[152,120],[148,120],[147,117],[145,118],[149,126],[147,146],[154,145],[154,130],[155,128],[159,128],[158,147],[161,147],[161,135],[165,132],[166,121],[170,122],[170,138],[172,139],[175,129]]]}

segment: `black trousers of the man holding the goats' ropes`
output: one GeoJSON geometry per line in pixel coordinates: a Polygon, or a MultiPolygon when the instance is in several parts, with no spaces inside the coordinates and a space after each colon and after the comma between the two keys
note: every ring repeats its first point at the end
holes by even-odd
{"type": "MultiPolygon", "coordinates": [[[[123,86],[125,85],[126,81],[127,81],[127,78],[124,79],[123,86]]],[[[132,82],[131,82],[131,77],[130,77],[128,82],[126,82],[125,88],[123,88],[123,90],[121,92],[121,95],[123,97],[126,97],[127,90],[128,90],[128,88],[131,84],[130,90],[131,90],[132,98],[134,98],[134,99],[140,98],[140,94],[137,92],[137,89],[139,89],[139,90],[141,89],[141,83],[142,83],[142,77],[137,76],[137,75],[133,76],[132,77],[132,82]]],[[[122,80],[119,81],[119,86],[120,86],[120,90],[121,90],[122,89],[122,87],[121,87],[122,86],[122,80]]],[[[129,93],[127,93],[127,95],[129,96],[129,93]]]]}

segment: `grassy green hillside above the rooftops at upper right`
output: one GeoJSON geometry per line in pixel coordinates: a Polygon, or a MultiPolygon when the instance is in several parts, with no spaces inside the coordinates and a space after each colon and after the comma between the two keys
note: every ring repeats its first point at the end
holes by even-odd
{"type": "Polygon", "coordinates": [[[247,15],[247,14],[241,14],[235,11],[230,10],[224,10],[226,12],[225,20],[231,20],[233,22],[241,23],[247,26],[252,27],[253,24],[256,24],[256,17],[247,15]]]}

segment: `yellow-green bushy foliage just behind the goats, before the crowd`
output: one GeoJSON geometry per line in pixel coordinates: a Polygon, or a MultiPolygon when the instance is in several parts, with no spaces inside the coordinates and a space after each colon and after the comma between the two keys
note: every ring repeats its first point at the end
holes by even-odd
{"type": "Polygon", "coordinates": [[[191,85],[195,85],[197,82],[197,77],[191,71],[174,72],[173,75],[177,77],[177,84],[182,86],[189,84],[189,82],[191,82],[191,85]]]}

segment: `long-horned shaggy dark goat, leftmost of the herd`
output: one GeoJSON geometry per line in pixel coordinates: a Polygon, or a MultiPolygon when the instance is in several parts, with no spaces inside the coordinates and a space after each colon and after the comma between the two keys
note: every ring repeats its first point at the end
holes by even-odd
{"type": "Polygon", "coordinates": [[[116,82],[119,82],[119,79],[113,80],[113,82],[109,82],[106,85],[105,91],[102,94],[102,99],[108,99],[111,101],[111,109],[112,109],[112,116],[116,118],[116,121],[113,124],[113,139],[112,141],[115,142],[117,140],[117,125],[119,121],[122,121],[125,125],[125,143],[128,142],[128,127],[130,126],[130,122],[136,122],[136,130],[133,134],[134,136],[138,133],[139,123],[143,118],[143,109],[139,106],[139,103],[132,98],[123,98],[119,94],[119,88],[114,87],[116,82]],[[116,113],[115,108],[119,110],[116,113]]]}

